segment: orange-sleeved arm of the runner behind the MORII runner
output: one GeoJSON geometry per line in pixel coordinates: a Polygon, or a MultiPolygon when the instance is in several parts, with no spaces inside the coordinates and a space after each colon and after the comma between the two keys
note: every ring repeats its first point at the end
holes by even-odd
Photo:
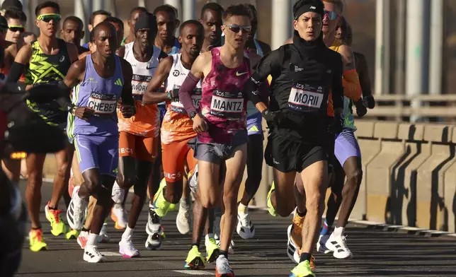
{"type": "Polygon", "coordinates": [[[353,100],[353,102],[358,102],[361,100],[362,91],[360,79],[355,68],[355,56],[348,45],[341,45],[339,53],[343,62],[343,95],[353,100]]]}

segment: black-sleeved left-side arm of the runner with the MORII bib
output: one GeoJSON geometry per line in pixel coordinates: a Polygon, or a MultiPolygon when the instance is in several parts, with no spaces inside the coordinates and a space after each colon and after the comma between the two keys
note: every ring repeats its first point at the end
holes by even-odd
{"type": "Polygon", "coordinates": [[[249,97],[259,112],[263,112],[268,108],[266,102],[261,99],[261,87],[264,86],[264,83],[268,83],[270,74],[273,75],[275,71],[280,71],[283,59],[282,53],[280,49],[277,49],[263,57],[258,62],[256,71],[244,84],[244,94],[249,97]]]}

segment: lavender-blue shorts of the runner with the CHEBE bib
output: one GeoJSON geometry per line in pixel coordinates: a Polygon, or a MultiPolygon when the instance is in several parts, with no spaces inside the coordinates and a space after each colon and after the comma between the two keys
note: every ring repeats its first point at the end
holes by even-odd
{"type": "Polygon", "coordinates": [[[119,163],[118,136],[87,136],[76,134],[74,148],[81,168],[86,170],[98,168],[100,175],[117,176],[119,163]]]}

